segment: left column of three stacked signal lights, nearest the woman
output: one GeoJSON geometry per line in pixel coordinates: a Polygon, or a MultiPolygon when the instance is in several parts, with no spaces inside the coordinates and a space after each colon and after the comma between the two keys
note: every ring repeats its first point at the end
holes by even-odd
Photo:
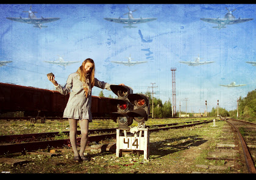
{"type": "Polygon", "coordinates": [[[118,112],[113,112],[113,120],[119,123],[120,129],[129,129],[128,126],[132,124],[133,118],[127,115],[127,112],[132,111],[133,107],[128,99],[128,95],[132,94],[132,88],[121,85],[110,85],[110,89],[118,96],[117,103],[118,112]]]}

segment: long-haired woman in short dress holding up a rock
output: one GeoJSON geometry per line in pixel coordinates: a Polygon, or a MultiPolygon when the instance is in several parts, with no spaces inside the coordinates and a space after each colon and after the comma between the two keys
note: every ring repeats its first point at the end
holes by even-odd
{"type": "MultiPolygon", "coordinates": [[[[61,94],[69,94],[68,103],[63,112],[63,117],[68,118],[70,130],[69,139],[74,151],[75,161],[89,161],[88,157],[84,156],[85,146],[88,140],[88,122],[92,122],[91,116],[91,88],[96,86],[101,89],[111,91],[110,84],[104,81],[99,81],[94,78],[95,65],[94,61],[87,58],[76,72],[70,74],[66,85],[60,86],[54,80],[54,76],[48,76],[48,79],[54,84],[56,90],[61,94]],[[77,120],[81,129],[80,152],[77,151],[76,135],[77,135],[77,120]]],[[[124,84],[120,84],[124,86],[124,84]]]]}

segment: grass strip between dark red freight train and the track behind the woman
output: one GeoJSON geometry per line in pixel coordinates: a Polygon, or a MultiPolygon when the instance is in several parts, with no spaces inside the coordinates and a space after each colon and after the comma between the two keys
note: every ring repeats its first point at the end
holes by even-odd
{"type": "MultiPolygon", "coordinates": [[[[203,118],[170,118],[170,119],[149,119],[146,121],[146,125],[176,123],[176,122],[189,122],[196,120],[209,120],[212,117],[203,118]]],[[[138,123],[133,120],[131,126],[137,126],[138,123]]],[[[118,123],[113,120],[93,120],[89,123],[89,129],[105,129],[105,128],[117,128],[118,123]]],[[[80,130],[79,123],[77,124],[77,130],[80,130]]],[[[63,132],[69,131],[68,120],[49,120],[46,119],[46,123],[32,123],[28,120],[1,120],[0,121],[0,136],[12,135],[12,134],[33,134],[33,133],[48,133],[48,132],[63,132]]]]}

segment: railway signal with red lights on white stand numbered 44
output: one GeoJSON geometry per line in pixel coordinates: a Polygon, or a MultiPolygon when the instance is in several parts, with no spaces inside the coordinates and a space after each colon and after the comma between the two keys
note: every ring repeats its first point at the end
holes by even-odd
{"type": "Polygon", "coordinates": [[[119,123],[116,129],[116,157],[121,157],[123,151],[143,151],[144,159],[148,159],[149,129],[144,126],[150,113],[148,96],[132,94],[132,88],[128,86],[111,85],[110,89],[119,99],[118,112],[112,114],[113,120],[119,123]],[[130,128],[133,119],[138,126],[130,128]]]}

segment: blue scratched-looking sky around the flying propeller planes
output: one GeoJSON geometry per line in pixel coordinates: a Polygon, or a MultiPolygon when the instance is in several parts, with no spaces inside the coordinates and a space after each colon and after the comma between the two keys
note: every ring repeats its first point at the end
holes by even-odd
{"type": "MultiPolygon", "coordinates": [[[[172,102],[171,67],[176,67],[176,106],[185,111],[199,112],[219,106],[236,108],[236,99],[255,89],[255,68],[246,61],[256,61],[256,21],[227,25],[214,29],[215,24],[200,18],[223,18],[236,9],[236,18],[255,18],[256,4],[0,4],[0,60],[12,63],[0,67],[0,81],[16,85],[54,89],[46,74],[65,85],[68,75],[76,72],[86,58],[96,64],[96,78],[111,84],[124,83],[133,93],[152,91],[164,103],[172,102]],[[38,18],[60,18],[38,29],[31,24],[10,21],[6,17],[27,17],[24,10],[36,11],[38,18]],[[126,29],[123,24],[104,18],[157,18],[126,29]],[[143,36],[143,40],[141,39],[143,36]],[[147,51],[148,49],[148,51],[147,51]],[[80,61],[63,69],[44,61],[80,61]],[[123,66],[110,61],[148,61],[135,66],[123,66]],[[187,66],[179,61],[215,61],[202,66],[187,66]],[[226,88],[232,81],[246,84],[226,88]]],[[[93,95],[101,89],[93,88],[93,95]]],[[[113,92],[104,90],[104,95],[113,92]]]]}

